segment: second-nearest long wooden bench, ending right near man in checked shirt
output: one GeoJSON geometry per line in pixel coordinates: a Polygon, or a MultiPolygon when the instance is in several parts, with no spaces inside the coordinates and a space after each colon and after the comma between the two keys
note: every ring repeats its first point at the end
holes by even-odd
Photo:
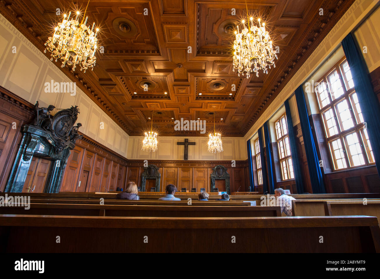
{"type": "Polygon", "coordinates": [[[30,203],[28,210],[25,210],[22,206],[1,206],[0,214],[144,217],[270,217],[281,216],[281,210],[279,206],[157,206],[30,203]]]}

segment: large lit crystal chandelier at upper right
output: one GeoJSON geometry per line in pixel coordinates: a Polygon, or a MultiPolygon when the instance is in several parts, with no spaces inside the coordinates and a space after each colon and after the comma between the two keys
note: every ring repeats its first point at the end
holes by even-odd
{"type": "Polygon", "coordinates": [[[233,71],[237,69],[239,76],[240,74],[243,76],[246,74],[247,79],[252,72],[255,72],[258,77],[260,69],[268,74],[267,67],[269,66],[269,69],[272,65],[275,67],[274,58],[277,59],[269,32],[265,31],[265,23],[261,25],[260,18],[257,21],[259,27],[253,24],[253,17],[250,17],[249,20],[247,19],[247,28],[243,19],[241,33],[239,32],[239,26],[235,31],[233,71]]]}

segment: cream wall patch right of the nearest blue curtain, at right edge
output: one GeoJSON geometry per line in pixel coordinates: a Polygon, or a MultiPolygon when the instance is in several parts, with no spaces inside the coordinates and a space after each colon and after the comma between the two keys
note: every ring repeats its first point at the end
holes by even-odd
{"type": "MultiPolygon", "coordinates": [[[[375,1],[374,1],[375,2],[375,1]]],[[[380,67],[380,8],[354,32],[359,46],[367,47],[367,53],[363,53],[369,72],[380,67]]]]}

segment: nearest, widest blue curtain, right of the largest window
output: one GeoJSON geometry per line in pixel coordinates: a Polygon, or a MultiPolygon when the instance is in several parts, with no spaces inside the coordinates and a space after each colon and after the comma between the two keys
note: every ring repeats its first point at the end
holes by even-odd
{"type": "Polygon", "coordinates": [[[361,47],[356,43],[354,36],[349,33],[342,41],[344,54],[346,55],[352,79],[355,85],[356,95],[360,103],[364,121],[367,122],[367,132],[371,141],[372,151],[376,162],[377,172],[380,175],[380,105],[372,87],[368,68],[361,52],[361,47]]]}

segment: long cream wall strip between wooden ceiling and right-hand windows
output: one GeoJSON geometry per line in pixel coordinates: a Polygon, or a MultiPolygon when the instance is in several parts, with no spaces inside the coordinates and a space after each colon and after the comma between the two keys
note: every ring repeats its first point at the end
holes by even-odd
{"type": "MultiPolygon", "coordinates": [[[[296,88],[305,82],[305,79],[309,77],[315,69],[320,66],[323,61],[328,57],[334,49],[342,42],[345,36],[351,30],[353,30],[358,24],[366,18],[366,16],[372,11],[372,9],[378,4],[378,1],[372,0],[356,0],[347,12],[340,18],[337,24],[332,28],[323,41],[317,46],[305,63],[298,69],[290,81],[280,91],[279,95],[259,117],[255,124],[245,134],[246,140],[250,139],[255,134],[259,127],[261,127],[265,121],[271,118],[273,112],[277,111],[279,107],[283,105],[285,99],[289,98],[296,90],[296,88]]],[[[369,55],[372,55],[369,52],[369,55]]],[[[373,54],[376,55],[376,54],[373,54]]],[[[378,55],[378,53],[377,53],[378,55]]],[[[296,123],[294,122],[294,125],[296,123]]]]}

